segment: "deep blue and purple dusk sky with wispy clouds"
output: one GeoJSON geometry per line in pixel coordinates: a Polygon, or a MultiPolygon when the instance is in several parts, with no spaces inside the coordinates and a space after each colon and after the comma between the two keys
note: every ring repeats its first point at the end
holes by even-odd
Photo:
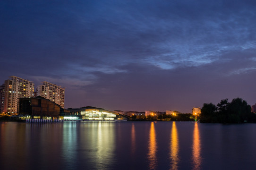
{"type": "Polygon", "coordinates": [[[66,87],[65,108],[191,113],[256,103],[255,0],[1,0],[0,84],[66,87]]]}

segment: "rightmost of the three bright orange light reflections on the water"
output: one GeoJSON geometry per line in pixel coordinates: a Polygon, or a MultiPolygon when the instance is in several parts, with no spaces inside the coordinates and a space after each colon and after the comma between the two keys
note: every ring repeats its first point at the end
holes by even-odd
{"type": "Polygon", "coordinates": [[[202,158],[201,158],[201,143],[200,143],[198,123],[195,123],[194,133],[193,133],[192,161],[193,161],[193,170],[199,170],[201,167],[202,158]]]}

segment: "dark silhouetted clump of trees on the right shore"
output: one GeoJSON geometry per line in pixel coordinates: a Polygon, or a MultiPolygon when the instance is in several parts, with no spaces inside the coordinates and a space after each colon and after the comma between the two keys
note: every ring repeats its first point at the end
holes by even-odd
{"type": "Polygon", "coordinates": [[[256,114],[251,106],[241,98],[222,99],[217,105],[204,103],[201,109],[200,122],[203,123],[245,123],[256,122],[256,114]]]}

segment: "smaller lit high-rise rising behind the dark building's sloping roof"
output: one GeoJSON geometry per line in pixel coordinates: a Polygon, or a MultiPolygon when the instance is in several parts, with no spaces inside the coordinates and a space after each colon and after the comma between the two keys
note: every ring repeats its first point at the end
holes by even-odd
{"type": "Polygon", "coordinates": [[[65,88],[44,81],[43,85],[37,86],[37,95],[44,97],[60,107],[64,108],[65,88]]]}

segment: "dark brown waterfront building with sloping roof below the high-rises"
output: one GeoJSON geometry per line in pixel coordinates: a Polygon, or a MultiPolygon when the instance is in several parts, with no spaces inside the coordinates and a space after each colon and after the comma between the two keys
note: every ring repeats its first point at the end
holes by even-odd
{"type": "Polygon", "coordinates": [[[60,119],[60,115],[69,114],[69,110],[41,96],[19,99],[18,110],[23,119],[60,119]]]}

